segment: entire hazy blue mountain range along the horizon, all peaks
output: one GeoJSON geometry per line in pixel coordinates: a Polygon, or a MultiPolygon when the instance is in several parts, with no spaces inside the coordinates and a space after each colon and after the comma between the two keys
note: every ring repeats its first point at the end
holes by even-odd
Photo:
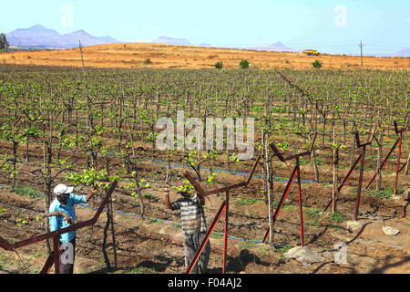
{"type": "MultiPolygon", "coordinates": [[[[43,49],[43,48],[70,48],[78,47],[78,41],[83,47],[96,46],[103,44],[118,44],[123,43],[111,36],[91,36],[84,30],[77,30],[75,32],[60,35],[56,30],[48,29],[45,26],[36,25],[28,28],[17,28],[5,34],[10,46],[18,48],[29,49],[43,49]]],[[[265,50],[274,52],[297,52],[298,50],[286,47],[282,42],[276,42],[272,45],[263,46],[225,46],[225,45],[211,45],[201,43],[193,45],[186,38],[175,38],[170,36],[159,36],[151,41],[151,43],[167,44],[167,45],[184,45],[184,46],[200,46],[200,47],[226,47],[226,48],[240,48],[251,50],[265,50]]],[[[325,52],[323,52],[325,53],[325,52]]],[[[365,56],[375,57],[410,57],[410,47],[404,47],[393,54],[368,54],[365,56]]]]}

